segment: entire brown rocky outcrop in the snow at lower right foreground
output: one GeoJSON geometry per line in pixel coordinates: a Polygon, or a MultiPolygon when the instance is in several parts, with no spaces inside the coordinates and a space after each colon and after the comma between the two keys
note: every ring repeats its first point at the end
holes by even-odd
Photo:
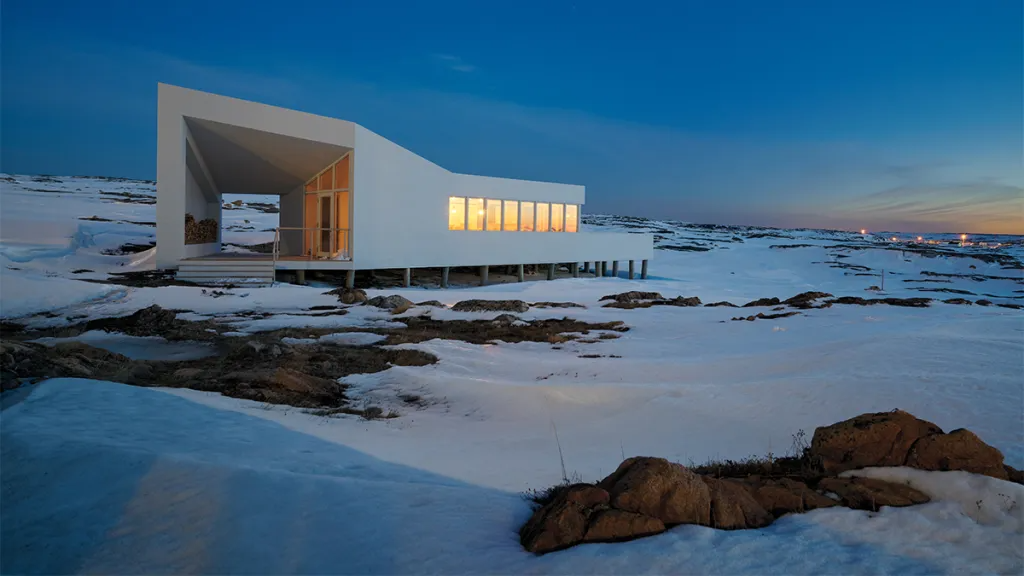
{"type": "Polygon", "coordinates": [[[724,462],[732,470],[725,474],[748,476],[718,478],[723,466],[702,466],[702,474],[696,474],[664,458],[628,458],[596,485],[559,489],[523,526],[522,544],[544,553],[581,542],[640,538],[680,524],[756,529],[783,515],[817,508],[878,510],[929,501],[927,494],[905,484],[836,476],[868,466],[958,469],[1024,482],[1020,470],[1002,463],[998,450],[972,433],[943,434],[935,424],[899,410],[819,427],[805,456],[785,459],[798,466],[758,463],[756,471],[737,472],[724,462]],[[780,471],[803,481],[761,476],[780,471]]]}

